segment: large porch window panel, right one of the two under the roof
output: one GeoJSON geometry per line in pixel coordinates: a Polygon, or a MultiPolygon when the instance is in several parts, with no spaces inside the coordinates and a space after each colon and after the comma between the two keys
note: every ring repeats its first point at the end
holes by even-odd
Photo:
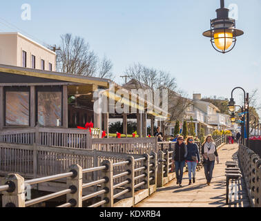
{"type": "Polygon", "coordinates": [[[38,122],[41,126],[61,126],[61,92],[38,92],[38,122]]]}

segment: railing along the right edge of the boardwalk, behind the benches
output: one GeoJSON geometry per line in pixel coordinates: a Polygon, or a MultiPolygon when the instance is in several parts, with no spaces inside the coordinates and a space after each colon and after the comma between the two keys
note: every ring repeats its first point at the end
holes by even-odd
{"type": "Polygon", "coordinates": [[[238,158],[247,184],[251,206],[261,207],[261,159],[259,155],[242,144],[239,147],[238,158]]]}

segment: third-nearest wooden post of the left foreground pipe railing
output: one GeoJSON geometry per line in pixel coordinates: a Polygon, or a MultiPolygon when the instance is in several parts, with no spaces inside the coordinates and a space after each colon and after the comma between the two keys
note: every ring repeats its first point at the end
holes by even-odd
{"type": "Polygon", "coordinates": [[[103,207],[113,207],[113,163],[109,160],[104,160],[104,162],[101,163],[101,166],[106,166],[106,169],[101,171],[101,177],[104,177],[106,180],[106,182],[101,184],[101,189],[106,190],[106,193],[101,197],[101,200],[106,200],[103,207]]]}

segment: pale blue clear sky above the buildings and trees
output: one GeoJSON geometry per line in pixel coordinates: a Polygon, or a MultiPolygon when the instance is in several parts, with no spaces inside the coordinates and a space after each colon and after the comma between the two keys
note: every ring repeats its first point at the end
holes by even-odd
{"type": "MultiPolygon", "coordinates": [[[[139,62],[169,72],[190,98],[193,93],[230,98],[235,86],[249,93],[259,88],[260,98],[261,1],[225,0],[226,7],[232,3],[244,35],[225,55],[202,36],[219,0],[1,0],[0,31],[19,31],[50,45],[58,45],[65,33],[84,37],[99,57],[113,61],[117,83],[127,66],[139,62]],[[23,3],[30,4],[30,21],[21,19],[23,3]]],[[[240,90],[234,97],[242,103],[240,90]]]]}

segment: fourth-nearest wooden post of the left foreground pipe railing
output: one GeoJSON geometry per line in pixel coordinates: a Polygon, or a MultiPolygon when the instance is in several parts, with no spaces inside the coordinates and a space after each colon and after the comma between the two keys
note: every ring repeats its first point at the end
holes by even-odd
{"type": "Polygon", "coordinates": [[[128,193],[126,193],[127,198],[133,198],[133,206],[135,205],[135,189],[134,189],[134,166],[135,159],[134,157],[127,158],[129,164],[126,165],[126,171],[129,172],[129,175],[126,175],[126,180],[128,180],[128,184],[126,184],[126,189],[129,189],[128,193]]]}

